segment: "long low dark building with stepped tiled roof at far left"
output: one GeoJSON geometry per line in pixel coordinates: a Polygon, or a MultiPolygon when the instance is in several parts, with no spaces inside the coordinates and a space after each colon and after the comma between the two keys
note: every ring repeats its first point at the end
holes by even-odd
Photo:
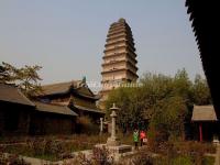
{"type": "Polygon", "coordinates": [[[67,106],[33,101],[0,84],[0,135],[70,134],[77,116],[67,106]]]}

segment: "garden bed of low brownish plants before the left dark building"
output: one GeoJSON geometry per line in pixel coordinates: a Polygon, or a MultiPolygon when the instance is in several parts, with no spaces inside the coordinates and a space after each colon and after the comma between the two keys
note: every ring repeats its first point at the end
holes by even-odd
{"type": "Polygon", "coordinates": [[[70,135],[70,136],[38,136],[25,141],[1,141],[0,152],[47,161],[72,158],[73,152],[91,150],[95,144],[103,143],[107,135],[70,135]]]}

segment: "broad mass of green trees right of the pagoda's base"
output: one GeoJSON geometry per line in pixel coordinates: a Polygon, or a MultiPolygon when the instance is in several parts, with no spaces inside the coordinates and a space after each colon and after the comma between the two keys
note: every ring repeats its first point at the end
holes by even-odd
{"type": "Polygon", "coordinates": [[[147,121],[145,127],[150,136],[158,138],[158,142],[185,139],[193,105],[210,102],[206,81],[197,76],[193,82],[185,69],[178,70],[174,77],[146,73],[140,84],[142,86],[138,88],[114,89],[109,95],[107,108],[113,102],[121,108],[118,112],[120,124],[147,121]]]}

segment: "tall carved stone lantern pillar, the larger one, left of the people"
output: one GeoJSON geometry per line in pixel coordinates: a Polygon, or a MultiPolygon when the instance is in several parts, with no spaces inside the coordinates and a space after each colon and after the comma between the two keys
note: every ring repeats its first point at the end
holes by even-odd
{"type": "Polygon", "coordinates": [[[116,118],[117,118],[117,113],[116,110],[119,110],[119,108],[116,107],[116,105],[113,103],[113,107],[110,108],[110,110],[112,110],[110,117],[111,117],[111,136],[108,138],[107,140],[107,145],[109,146],[117,146],[119,145],[119,139],[116,135],[116,118]]]}

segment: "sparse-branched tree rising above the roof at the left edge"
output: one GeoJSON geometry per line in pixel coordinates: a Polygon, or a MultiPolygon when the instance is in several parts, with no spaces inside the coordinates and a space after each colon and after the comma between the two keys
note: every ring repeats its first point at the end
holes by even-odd
{"type": "Polygon", "coordinates": [[[38,80],[42,80],[37,72],[41,66],[28,66],[16,68],[2,62],[0,65],[0,82],[16,85],[26,96],[32,97],[41,90],[38,80]]]}

